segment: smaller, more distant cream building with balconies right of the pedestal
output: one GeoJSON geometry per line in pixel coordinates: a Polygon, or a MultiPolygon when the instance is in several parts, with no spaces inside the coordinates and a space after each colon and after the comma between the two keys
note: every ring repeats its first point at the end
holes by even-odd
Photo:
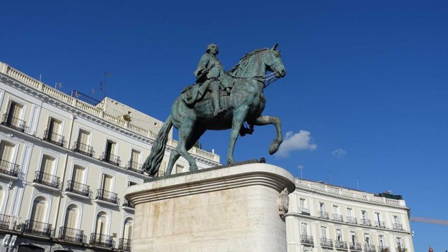
{"type": "Polygon", "coordinates": [[[401,197],[295,179],[286,215],[288,252],[412,252],[401,197]]]}

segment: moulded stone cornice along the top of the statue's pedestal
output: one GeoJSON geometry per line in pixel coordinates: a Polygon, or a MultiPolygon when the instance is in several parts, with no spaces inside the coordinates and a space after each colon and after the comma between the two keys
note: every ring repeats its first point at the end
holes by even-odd
{"type": "Polygon", "coordinates": [[[281,192],[288,188],[293,192],[295,185],[291,173],[271,164],[243,164],[225,168],[209,168],[182,176],[158,179],[150,183],[127,188],[126,199],[134,205],[143,202],[160,201],[191,194],[200,194],[241,186],[267,186],[281,192]]]}

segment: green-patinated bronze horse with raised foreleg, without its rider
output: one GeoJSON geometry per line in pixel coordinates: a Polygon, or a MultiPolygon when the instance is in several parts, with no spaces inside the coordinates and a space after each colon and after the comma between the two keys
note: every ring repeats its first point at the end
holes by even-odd
{"type": "Polygon", "coordinates": [[[198,170],[196,160],[189,155],[188,150],[194,146],[207,129],[232,129],[227,151],[227,164],[235,162],[233,151],[238,135],[243,136],[245,133],[252,133],[250,129],[243,126],[243,123],[246,122],[251,129],[253,125],[275,125],[277,136],[269,145],[269,154],[276,153],[282,143],[280,119],[273,116],[263,116],[261,112],[265,109],[266,103],[263,89],[267,86],[266,81],[273,77],[267,78],[266,72],[272,72],[271,75],[275,75],[276,78],[285,77],[286,74],[280,52],[276,49],[277,46],[278,44],[274,45],[272,49],[256,49],[247,53],[236,66],[226,73],[233,78],[234,82],[230,95],[221,90],[220,104],[221,108],[226,109],[224,114],[213,115],[209,94],[193,105],[185,103],[181,96],[177,97],[171,107],[170,116],[157,134],[150,155],[143,164],[143,170],[150,176],[154,176],[159,171],[168,141],[168,134],[173,125],[176,129],[179,129],[179,142],[176,149],[172,150],[170,154],[165,175],[171,174],[174,163],[180,156],[184,157],[189,163],[189,171],[198,170]]]}

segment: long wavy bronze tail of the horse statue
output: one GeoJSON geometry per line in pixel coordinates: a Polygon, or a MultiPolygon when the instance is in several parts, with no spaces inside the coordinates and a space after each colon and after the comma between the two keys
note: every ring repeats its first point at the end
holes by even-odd
{"type": "Polygon", "coordinates": [[[160,164],[165,154],[166,142],[168,141],[168,134],[172,128],[171,115],[166,118],[165,123],[161,127],[157,138],[151,148],[151,153],[143,164],[143,171],[149,173],[150,176],[154,176],[159,171],[160,164]]]}

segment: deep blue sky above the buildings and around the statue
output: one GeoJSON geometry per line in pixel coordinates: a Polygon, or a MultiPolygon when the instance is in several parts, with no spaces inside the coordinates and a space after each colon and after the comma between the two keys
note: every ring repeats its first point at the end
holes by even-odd
{"type": "MultiPolygon", "coordinates": [[[[226,69],[279,43],[285,79],[239,138],[235,158],[267,157],[306,179],[403,194],[412,216],[448,219],[448,1],[1,1],[0,61],[62,90],[107,96],[164,121],[209,43],[226,69]],[[302,133],[300,131],[302,130],[302,133]],[[314,145],[313,145],[314,144],[314,145]],[[314,147],[313,147],[314,146],[314,147]],[[295,149],[294,149],[295,148],[295,149]],[[334,152],[335,150],[339,150],[334,152]],[[339,155],[334,155],[339,153],[339,155]]],[[[229,131],[204,149],[226,159],[229,131]]],[[[416,251],[448,248],[448,227],[412,223],[416,251]]]]}

